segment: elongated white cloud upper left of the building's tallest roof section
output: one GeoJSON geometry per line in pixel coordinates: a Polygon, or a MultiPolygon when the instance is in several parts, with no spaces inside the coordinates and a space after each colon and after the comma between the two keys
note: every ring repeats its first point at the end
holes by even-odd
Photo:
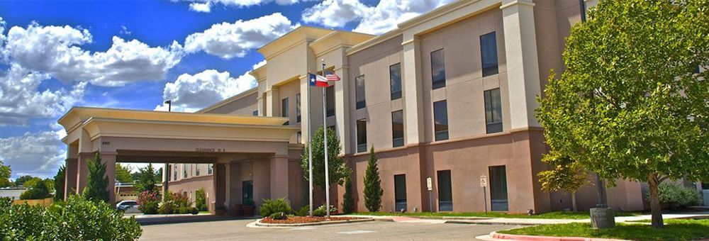
{"type": "Polygon", "coordinates": [[[244,57],[250,49],[261,47],[297,27],[298,24],[291,25],[291,21],[281,13],[247,21],[218,23],[201,33],[187,36],[184,50],[190,53],[204,51],[223,59],[244,57]]]}

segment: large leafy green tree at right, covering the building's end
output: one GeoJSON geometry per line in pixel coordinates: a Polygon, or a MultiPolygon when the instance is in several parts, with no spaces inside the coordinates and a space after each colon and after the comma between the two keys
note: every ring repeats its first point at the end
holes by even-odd
{"type": "Polygon", "coordinates": [[[709,181],[708,0],[601,1],[566,38],[566,70],[549,77],[537,119],[552,150],[613,184],[709,181]]]}

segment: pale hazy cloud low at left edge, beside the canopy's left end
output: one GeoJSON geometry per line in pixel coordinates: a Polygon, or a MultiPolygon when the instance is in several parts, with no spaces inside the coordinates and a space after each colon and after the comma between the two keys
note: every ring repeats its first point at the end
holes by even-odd
{"type": "Polygon", "coordinates": [[[11,164],[13,176],[50,177],[66,158],[62,145],[53,131],[0,138],[0,159],[11,164]]]}

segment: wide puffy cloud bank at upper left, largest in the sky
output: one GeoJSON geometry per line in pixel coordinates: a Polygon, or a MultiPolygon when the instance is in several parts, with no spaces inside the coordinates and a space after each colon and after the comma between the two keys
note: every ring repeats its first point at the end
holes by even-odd
{"type": "Polygon", "coordinates": [[[129,82],[163,79],[183,57],[182,46],[150,47],[138,40],[114,36],[106,52],[89,52],[79,45],[91,43],[89,30],[70,26],[13,26],[2,53],[30,71],[51,74],[67,82],[123,86],[129,82]]]}

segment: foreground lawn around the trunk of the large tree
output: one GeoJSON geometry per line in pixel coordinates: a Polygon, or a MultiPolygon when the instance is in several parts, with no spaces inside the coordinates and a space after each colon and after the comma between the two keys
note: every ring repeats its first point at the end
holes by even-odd
{"type": "Polygon", "coordinates": [[[709,219],[666,219],[665,228],[657,230],[648,224],[616,223],[615,228],[593,230],[588,223],[539,225],[499,231],[511,235],[557,237],[601,237],[623,240],[698,240],[709,238],[709,219]]]}

